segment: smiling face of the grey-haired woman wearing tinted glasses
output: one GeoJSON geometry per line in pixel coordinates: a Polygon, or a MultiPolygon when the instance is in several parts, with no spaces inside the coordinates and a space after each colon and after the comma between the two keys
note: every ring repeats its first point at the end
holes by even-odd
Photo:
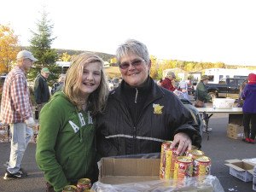
{"type": "Polygon", "coordinates": [[[148,78],[150,67],[150,62],[147,64],[147,62],[138,55],[129,54],[121,58],[119,69],[125,82],[131,86],[137,87],[143,84],[148,78]],[[132,65],[132,63],[134,65],[132,65]],[[129,67],[127,67],[128,64],[129,67]],[[122,66],[126,66],[127,68],[122,68],[122,66]]]}

